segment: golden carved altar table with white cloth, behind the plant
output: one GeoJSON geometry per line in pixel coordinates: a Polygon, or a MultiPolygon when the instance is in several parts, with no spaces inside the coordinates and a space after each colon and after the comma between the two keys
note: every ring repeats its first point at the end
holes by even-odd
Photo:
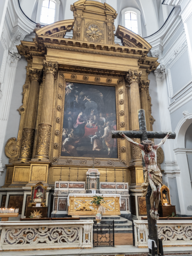
{"type": "Polygon", "coordinates": [[[95,215],[97,207],[91,204],[93,197],[103,196],[105,213],[103,215],[120,215],[121,194],[69,194],[68,215],[95,215]]]}

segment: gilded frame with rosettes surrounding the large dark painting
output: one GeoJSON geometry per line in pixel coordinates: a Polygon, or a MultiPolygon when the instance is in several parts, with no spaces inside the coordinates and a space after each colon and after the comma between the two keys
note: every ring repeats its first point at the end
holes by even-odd
{"type": "MultiPolygon", "coordinates": [[[[67,71],[59,71],[57,74],[57,85],[55,90],[55,110],[53,117],[53,131],[51,141],[51,163],[53,165],[77,165],[77,166],[90,166],[93,165],[93,158],[88,157],[63,157],[61,156],[61,142],[62,142],[62,129],[63,129],[63,114],[65,103],[65,83],[87,83],[104,86],[116,87],[116,117],[117,129],[126,130],[129,127],[129,112],[127,102],[127,89],[125,87],[125,80],[123,77],[93,75],[89,73],[73,73],[67,71]],[[123,100],[123,101],[122,101],[123,100]]],[[[129,165],[129,154],[126,151],[127,141],[118,140],[117,159],[97,158],[95,165],[98,167],[127,167],[129,165]]]]}

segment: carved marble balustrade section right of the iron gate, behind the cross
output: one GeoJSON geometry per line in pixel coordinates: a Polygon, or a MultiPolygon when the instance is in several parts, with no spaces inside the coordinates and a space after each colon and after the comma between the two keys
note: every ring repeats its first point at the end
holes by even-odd
{"type": "MultiPolygon", "coordinates": [[[[134,220],[135,246],[148,247],[147,220],[134,220]]],[[[158,220],[158,238],[163,246],[192,246],[192,220],[158,220]]]]}

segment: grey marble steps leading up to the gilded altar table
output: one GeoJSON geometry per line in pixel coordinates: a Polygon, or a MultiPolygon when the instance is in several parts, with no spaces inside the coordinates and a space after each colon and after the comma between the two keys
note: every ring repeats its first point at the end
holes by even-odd
{"type": "MultiPolygon", "coordinates": [[[[73,218],[80,218],[80,220],[94,220],[95,216],[90,215],[72,215],[73,218]]],[[[115,233],[132,233],[132,221],[127,220],[118,215],[104,215],[103,220],[114,220],[115,233]]]]}

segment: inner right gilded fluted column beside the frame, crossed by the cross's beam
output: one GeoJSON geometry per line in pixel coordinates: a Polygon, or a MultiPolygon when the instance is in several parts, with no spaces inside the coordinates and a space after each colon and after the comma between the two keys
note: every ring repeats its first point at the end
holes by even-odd
{"type": "MultiPolygon", "coordinates": [[[[138,111],[139,109],[141,109],[139,81],[141,79],[141,74],[142,72],[139,72],[137,70],[129,70],[126,77],[126,81],[130,84],[132,130],[139,130],[138,111]]],[[[140,139],[134,139],[134,141],[140,143],[140,139]]],[[[141,150],[134,145],[132,145],[132,159],[141,160],[141,150]]]]}

